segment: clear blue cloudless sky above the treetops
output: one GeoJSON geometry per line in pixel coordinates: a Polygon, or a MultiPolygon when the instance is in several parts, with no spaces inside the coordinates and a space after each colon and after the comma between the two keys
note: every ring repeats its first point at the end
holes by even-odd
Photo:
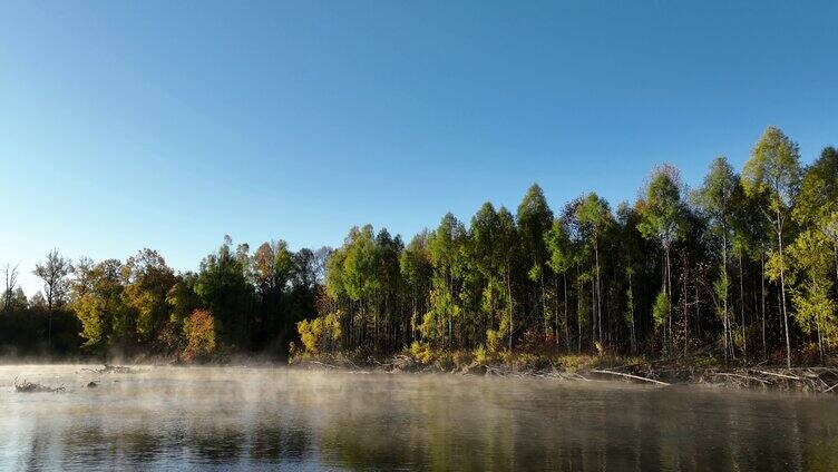
{"type": "Polygon", "coordinates": [[[225,234],[406,238],[446,212],[698,185],[768,125],[838,144],[835,1],[6,1],[0,264],[197,268],[225,234]]]}

